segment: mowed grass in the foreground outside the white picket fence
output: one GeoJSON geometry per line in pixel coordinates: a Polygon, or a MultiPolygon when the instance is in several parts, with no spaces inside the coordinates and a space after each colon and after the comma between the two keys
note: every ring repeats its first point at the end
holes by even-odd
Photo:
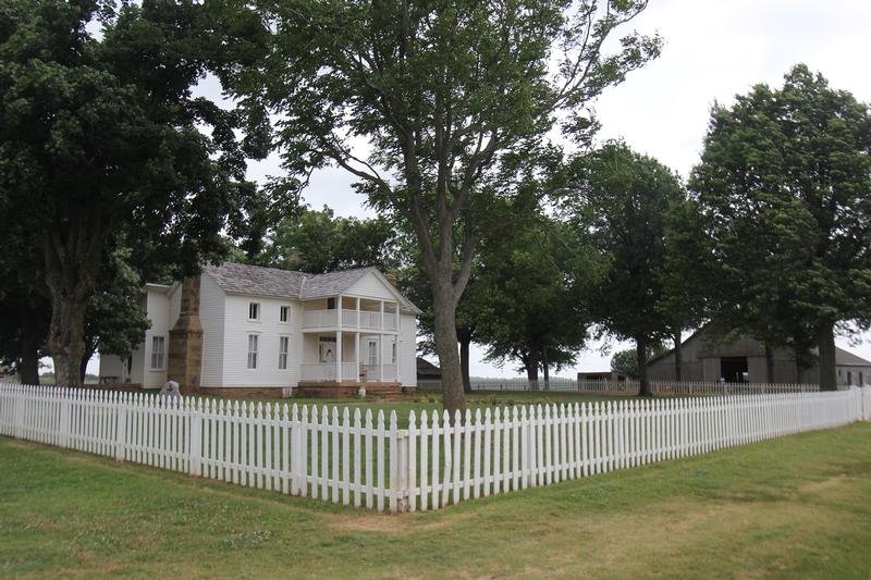
{"type": "Polygon", "coordinates": [[[382,515],[0,437],[0,577],[869,578],[871,423],[382,515]]]}

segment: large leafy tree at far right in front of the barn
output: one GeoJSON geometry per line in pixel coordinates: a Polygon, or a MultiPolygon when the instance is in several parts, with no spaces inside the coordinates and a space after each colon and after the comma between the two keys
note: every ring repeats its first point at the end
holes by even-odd
{"type": "Polygon", "coordinates": [[[836,387],[835,329],[871,322],[871,114],[797,65],[715,104],[690,187],[700,196],[731,316],[766,347],[819,351],[836,387]]]}

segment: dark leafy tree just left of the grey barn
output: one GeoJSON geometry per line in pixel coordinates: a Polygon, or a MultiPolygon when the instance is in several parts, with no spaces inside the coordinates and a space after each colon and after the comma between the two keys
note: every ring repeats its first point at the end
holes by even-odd
{"type": "Polygon", "coordinates": [[[622,143],[577,161],[576,193],[566,208],[575,227],[609,260],[604,283],[589,296],[606,332],[636,343],[640,394],[650,396],[649,349],[670,334],[659,270],[665,263],[665,215],[684,198],[677,175],[622,143]]]}

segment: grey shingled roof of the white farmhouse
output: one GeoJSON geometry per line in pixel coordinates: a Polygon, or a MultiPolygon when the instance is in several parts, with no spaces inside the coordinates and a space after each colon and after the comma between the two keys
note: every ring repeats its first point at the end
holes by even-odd
{"type": "MultiPolygon", "coordinates": [[[[232,294],[253,294],[256,296],[273,296],[277,298],[297,298],[307,300],[327,296],[336,296],[346,292],[364,276],[373,273],[383,279],[377,268],[355,268],[326,274],[306,274],[279,268],[248,266],[244,263],[224,262],[206,264],[207,273],[218,287],[232,294]]],[[[385,283],[390,284],[385,281],[385,283]]],[[[395,288],[400,310],[419,314],[420,309],[412,304],[395,288]]]]}

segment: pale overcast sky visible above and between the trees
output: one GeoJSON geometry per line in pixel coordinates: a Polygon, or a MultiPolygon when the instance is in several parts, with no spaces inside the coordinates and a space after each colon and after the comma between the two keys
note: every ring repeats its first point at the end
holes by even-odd
{"type": "MultiPolygon", "coordinates": [[[[796,63],[869,102],[870,23],[870,0],[650,0],[633,25],[662,35],[662,57],[601,97],[596,106],[600,138],[623,137],[686,176],[698,161],[711,104],[732,102],[757,83],[780,85],[796,63]]],[[[262,178],[281,170],[272,157],[253,164],[250,172],[262,178]]],[[[328,205],[340,215],[371,215],[351,183],[341,170],[321,171],[305,201],[316,208],[328,205]]],[[[871,358],[871,341],[862,338],[858,345],[838,344],[871,358]]],[[[482,363],[480,355],[473,350],[473,375],[514,374],[512,365],[498,369],[482,363]]],[[[580,357],[577,370],[605,369],[610,358],[592,349],[580,357]]]]}

